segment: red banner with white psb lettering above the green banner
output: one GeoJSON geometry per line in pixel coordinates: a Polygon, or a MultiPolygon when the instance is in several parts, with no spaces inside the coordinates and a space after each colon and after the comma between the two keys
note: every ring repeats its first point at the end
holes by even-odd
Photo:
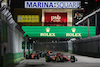
{"type": "Polygon", "coordinates": [[[45,12],[44,26],[67,26],[67,13],[45,12]]]}

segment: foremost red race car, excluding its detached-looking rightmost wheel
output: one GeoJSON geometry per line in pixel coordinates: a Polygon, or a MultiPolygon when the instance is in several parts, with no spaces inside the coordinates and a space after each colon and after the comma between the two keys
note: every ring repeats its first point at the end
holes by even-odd
{"type": "Polygon", "coordinates": [[[52,53],[52,54],[47,54],[46,57],[46,62],[50,62],[50,61],[57,61],[57,62],[64,62],[64,61],[70,61],[70,59],[68,58],[68,56],[64,56],[61,53],[52,53]]]}

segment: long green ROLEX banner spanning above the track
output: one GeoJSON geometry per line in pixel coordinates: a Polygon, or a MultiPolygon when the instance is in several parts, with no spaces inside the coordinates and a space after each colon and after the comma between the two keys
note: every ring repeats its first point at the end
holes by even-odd
{"type": "MultiPolygon", "coordinates": [[[[68,37],[83,38],[88,37],[88,27],[83,26],[22,26],[24,36],[29,37],[68,37]]],[[[95,26],[89,27],[89,36],[95,36],[95,26]]]]}

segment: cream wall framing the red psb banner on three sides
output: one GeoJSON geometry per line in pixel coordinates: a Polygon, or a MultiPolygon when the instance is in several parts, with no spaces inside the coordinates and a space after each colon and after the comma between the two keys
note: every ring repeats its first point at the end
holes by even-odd
{"type": "Polygon", "coordinates": [[[67,26],[72,26],[72,9],[42,9],[42,25],[44,25],[45,12],[66,12],[67,13],[67,26]]]}

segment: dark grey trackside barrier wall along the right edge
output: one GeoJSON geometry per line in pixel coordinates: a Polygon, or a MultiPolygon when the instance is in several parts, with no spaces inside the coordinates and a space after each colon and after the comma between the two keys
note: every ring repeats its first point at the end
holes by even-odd
{"type": "Polygon", "coordinates": [[[72,41],[74,54],[100,57],[100,35],[72,41]]]}

